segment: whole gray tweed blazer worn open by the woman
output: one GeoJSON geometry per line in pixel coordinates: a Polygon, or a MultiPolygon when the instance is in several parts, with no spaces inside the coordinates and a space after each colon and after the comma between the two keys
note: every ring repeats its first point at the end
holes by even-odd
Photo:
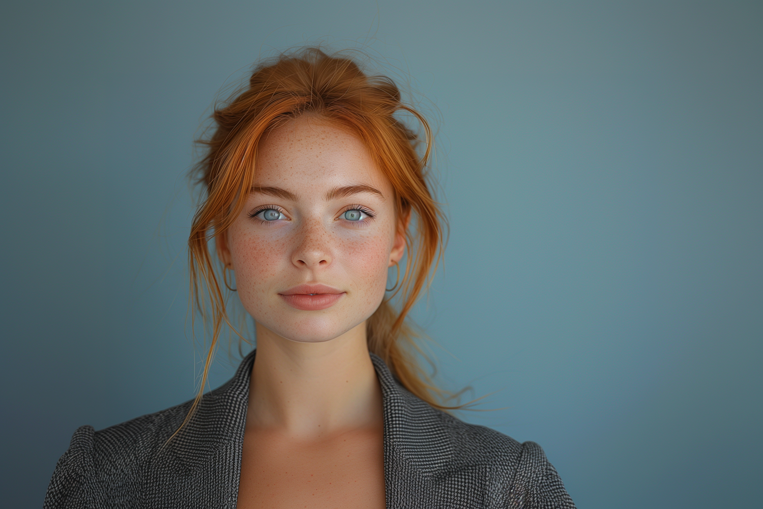
{"type": "MultiPolygon", "coordinates": [[[[574,509],[534,442],[465,424],[410,394],[371,354],[384,400],[387,507],[574,509]]],[[[45,509],[235,509],[254,352],[201,400],[95,431],[80,427],[61,456],[45,509]]]]}

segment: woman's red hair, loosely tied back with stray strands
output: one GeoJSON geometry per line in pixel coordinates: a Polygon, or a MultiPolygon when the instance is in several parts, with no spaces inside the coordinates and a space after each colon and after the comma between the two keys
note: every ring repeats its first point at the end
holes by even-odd
{"type": "Polygon", "coordinates": [[[444,217],[425,172],[432,149],[430,126],[419,112],[401,102],[400,90],[391,79],[367,76],[349,58],[307,48],[257,66],[249,86],[214,111],[216,128],[201,142],[207,151],[195,172],[205,196],[188,238],[188,261],[192,299],[202,316],[211,318],[212,339],[201,389],[186,422],[203,393],[221,330],[224,324],[230,325],[227,295],[220,285],[221,264],[210,252],[208,241],[224,236],[243,208],[254,180],[262,135],[301,114],[315,115],[362,140],[394,188],[400,227],[413,217],[413,226],[405,232],[407,263],[395,292],[400,292],[400,305],[396,309],[386,299],[369,318],[369,351],[384,359],[414,395],[436,408],[446,408],[439,401],[442,393],[417,363],[414,350],[418,347],[406,321],[443,246],[444,217]],[[417,153],[419,141],[413,131],[396,118],[399,112],[420,122],[426,136],[423,154],[417,153]]]}

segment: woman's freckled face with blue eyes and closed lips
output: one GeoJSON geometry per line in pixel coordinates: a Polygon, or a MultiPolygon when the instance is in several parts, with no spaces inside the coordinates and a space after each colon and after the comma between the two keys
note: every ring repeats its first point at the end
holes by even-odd
{"type": "Polygon", "coordinates": [[[259,144],[255,182],[221,243],[241,302],[289,340],[331,340],[362,324],[403,255],[394,192],[365,145],[303,116],[259,144]]]}

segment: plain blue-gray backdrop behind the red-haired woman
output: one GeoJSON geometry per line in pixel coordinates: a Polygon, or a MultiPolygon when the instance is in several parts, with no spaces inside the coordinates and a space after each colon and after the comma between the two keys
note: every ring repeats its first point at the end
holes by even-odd
{"type": "Polygon", "coordinates": [[[452,234],[417,317],[443,384],[506,407],[465,419],[540,443],[581,508],[759,504],[761,2],[27,0],[0,23],[5,507],[41,504],[76,427],[193,395],[192,139],[241,69],[317,40],[436,105],[452,234]]]}

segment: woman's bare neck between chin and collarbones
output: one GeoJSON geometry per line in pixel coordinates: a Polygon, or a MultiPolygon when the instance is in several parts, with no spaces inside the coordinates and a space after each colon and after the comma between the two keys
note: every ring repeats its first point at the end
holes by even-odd
{"type": "Polygon", "coordinates": [[[321,343],[287,340],[259,324],[256,332],[246,427],[317,438],[381,426],[365,322],[321,343]]]}

